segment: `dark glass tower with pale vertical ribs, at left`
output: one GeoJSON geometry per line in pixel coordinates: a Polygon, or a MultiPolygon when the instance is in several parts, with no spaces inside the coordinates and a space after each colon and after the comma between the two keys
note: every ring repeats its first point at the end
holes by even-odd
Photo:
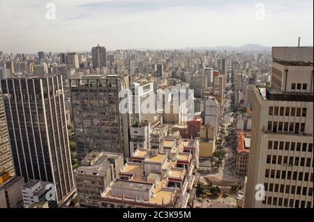
{"type": "Polygon", "coordinates": [[[15,174],[52,182],[57,202],[74,189],[62,77],[1,79],[15,174]]]}

